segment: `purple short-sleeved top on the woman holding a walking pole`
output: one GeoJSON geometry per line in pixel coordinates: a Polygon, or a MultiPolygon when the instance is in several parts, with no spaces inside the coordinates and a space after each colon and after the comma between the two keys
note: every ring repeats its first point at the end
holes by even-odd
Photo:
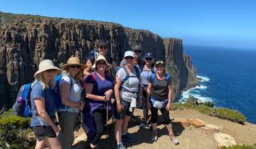
{"type": "MultiPolygon", "coordinates": [[[[86,84],[93,84],[93,89],[91,94],[95,94],[98,96],[105,96],[105,92],[114,88],[114,84],[112,83],[107,73],[105,73],[105,80],[100,79],[100,77],[97,75],[96,72],[92,72],[92,73],[95,74],[95,80],[92,79],[92,74],[88,75],[87,78],[85,79],[86,84]]],[[[92,112],[95,109],[106,109],[105,101],[95,101],[92,99],[87,99],[87,101],[88,102],[85,102],[86,103],[85,113],[92,112]]]]}

